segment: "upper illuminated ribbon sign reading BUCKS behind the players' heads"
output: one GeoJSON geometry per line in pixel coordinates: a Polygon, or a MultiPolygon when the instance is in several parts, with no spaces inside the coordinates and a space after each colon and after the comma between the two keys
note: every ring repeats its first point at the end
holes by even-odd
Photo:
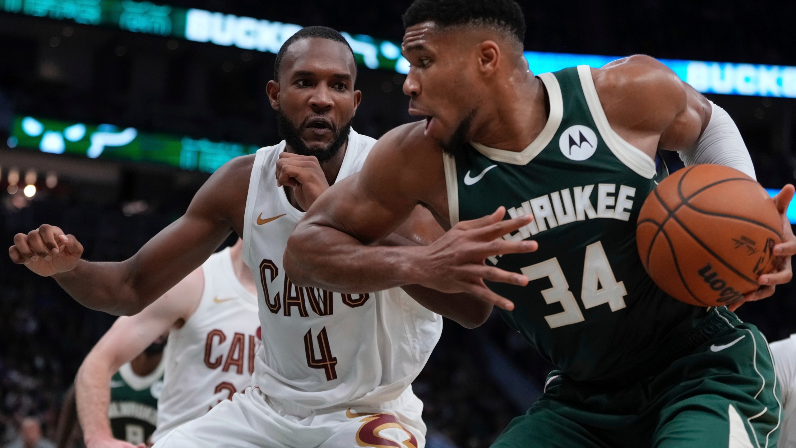
{"type": "MultiPolygon", "coordinates": [[[[0,0],[0,6],[10,13],[112,26],[134,33],[267,53],[279,52],[284,41],[302,29],[293,23],[132,0],[0,0]]],[[[365,34],[342,32],[342,35],[351,45],[358,64],[369,69],[409,72],[409,63],[400,53],[400,42],[374,39],[365,34]]],[[[619,57],[527,51],[525,58],[534,73],[544,73],[574,65],[602,67],[619,57]]],[[[661,62],[702,93],[796,98],[796,67],[673,59],[661,62]]]]}

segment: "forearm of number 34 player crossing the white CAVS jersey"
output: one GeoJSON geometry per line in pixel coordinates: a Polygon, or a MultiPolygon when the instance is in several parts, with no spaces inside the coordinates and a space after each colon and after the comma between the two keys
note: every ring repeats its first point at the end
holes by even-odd
{"type": "Polygon", "coordinates": [[[294,285],[367,293],[419,283],[420,250],[365,246],[340,230],[302,222],[287,241],[283,263],[294,285]]]}

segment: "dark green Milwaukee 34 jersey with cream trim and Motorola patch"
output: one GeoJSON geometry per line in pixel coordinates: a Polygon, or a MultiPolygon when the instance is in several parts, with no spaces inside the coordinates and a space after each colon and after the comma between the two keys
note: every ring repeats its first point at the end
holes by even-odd
{"type": "Polygon", "coordinates": [[[533,214],[503,238],[533,239],[539,250],[490,257],[530,280],[488,284],[514,302],[502,315],[572,379],[623,378],[649,367],[705,315],[659,289],[636,249],[638,211],[665,167],[611,129],[587,66],[539,78],[549,116],[529,147],[470,143],[445,155],[451,225],[498,206],[511,217],[533,214]]]}

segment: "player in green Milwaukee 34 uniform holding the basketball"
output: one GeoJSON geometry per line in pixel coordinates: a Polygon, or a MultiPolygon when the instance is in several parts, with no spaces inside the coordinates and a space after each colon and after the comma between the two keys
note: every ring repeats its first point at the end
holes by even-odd
{"type": "MultiPolygon", "coordinates": [[[[558,371],[495,446],[775,446],[763,335],[728,308],[665,295],[636,249],[638,210],[664,174],[657,150],[754,177],[726,112],[651,57],[534,77],[512,0],[416,0],[404,25],[404,92],[426,120],[388,132],[359,175],[318,198],[287,246],[291,280],[346,293],[419,284],[504,308],[558,371]],[[370,245],[417,204],[447,234],[370,245]]],[[[790,281],[793,192],[775,199],[778,269],[746,300],[790,281]]]]}

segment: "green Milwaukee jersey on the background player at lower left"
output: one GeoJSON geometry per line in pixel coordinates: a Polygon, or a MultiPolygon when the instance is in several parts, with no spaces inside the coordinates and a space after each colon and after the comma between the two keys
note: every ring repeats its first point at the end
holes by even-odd
{"type": "Polygon", "coordinates": [[[158,396],[163,387],[161,362],[146,376],[135,375],[130,363],[111,378],[111,403],[107,417],[113,437],[138,445],[146,443],[158,426],[158,396]]]}

